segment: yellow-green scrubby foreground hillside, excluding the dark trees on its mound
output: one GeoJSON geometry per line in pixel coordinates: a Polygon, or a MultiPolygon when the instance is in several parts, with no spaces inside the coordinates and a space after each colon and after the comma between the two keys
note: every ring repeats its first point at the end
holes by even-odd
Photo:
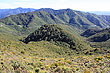
{"type": "MultiPolygon", "coordinates": [[[[58,27],[54,25],[44,25],[44,26],[52,28],[58,27]]],[[[42,26],[41,28],[44,28],[44,26],[42,26]]],[[[70,33],[70,30],[67,29],[67,27],[70,28],[69,26],[63,25],[61,26],[63,27],[63,29],[66,28],[65,32],[67,32],[68,34],[70,33]]],[[[39,31],[41,30],[39,29],[39,31]]],[[[101,48],[90,48],[83,40],[81,39],[78,40],[78,38],[80,37],[78,37],[78,35],[76,35],[75,32],[72,32],[71,35],[73,35],[74,36],[73,39],[76,40],[74,43],[78,43],[80,45],[83,44],[82,47],[79,47],[80,49],[71,49],[67,45],[64,45],[64,43],[58,42],[56,43],[54,41],[51,42],[43,39],[34,42],[30,41],[28,42],[28,44],[25,44],[22,41],[19,41],[19,39],[22,38],[20,36],[13,36],[1,33],[0,72],[1,73],[110,72],[109,50],[101,48]]],[[[34,36],[37,37],[37,35],[34,36]]]]}

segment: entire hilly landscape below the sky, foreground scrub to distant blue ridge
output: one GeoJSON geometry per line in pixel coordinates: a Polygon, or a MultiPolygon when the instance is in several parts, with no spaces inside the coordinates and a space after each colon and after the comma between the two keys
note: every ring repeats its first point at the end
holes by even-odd
{"type": "Polygon", "coordinates": [[[110,16],[72,9],[0,10],[1,73],[109,73],[110,16]]]}

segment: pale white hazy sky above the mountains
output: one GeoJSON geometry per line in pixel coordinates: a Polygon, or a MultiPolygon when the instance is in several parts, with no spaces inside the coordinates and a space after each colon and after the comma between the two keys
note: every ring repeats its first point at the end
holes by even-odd
{"type": "Polygon", "coordinates": [[[0,0],[0,9],[17,7],[110,11],[110,0],[0,0]]]}

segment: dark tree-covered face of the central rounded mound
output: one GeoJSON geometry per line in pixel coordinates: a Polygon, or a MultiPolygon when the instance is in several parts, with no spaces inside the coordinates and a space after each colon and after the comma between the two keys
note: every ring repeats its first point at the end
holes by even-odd
{"type": "MultiPolygon", "coordinates": [[[[75,34],[73,34],[75,35],[75,34]]],[[[71,49],[83,49],[81,43],[76,37],[67,33],[66,31],[59,28],[57,25],[43,25],[35,32],[28,35],[23,42],[29,43],[31,41],[53,41],[62,45],[67,45],[71,49]],[[80,45],[79,45],[80,44],[80,45]]],[[[86,48],[86,46],[85,46],[86,48]]]]}

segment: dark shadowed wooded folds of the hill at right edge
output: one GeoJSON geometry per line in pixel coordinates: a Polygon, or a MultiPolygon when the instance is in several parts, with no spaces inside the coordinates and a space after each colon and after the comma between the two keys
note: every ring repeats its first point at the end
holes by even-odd
{"type": "Polygon", "coordinates": [[[110,39],[110,28],[106,29],[88,29],[81,34],[92,42],[105,42],[110,39]]]}

